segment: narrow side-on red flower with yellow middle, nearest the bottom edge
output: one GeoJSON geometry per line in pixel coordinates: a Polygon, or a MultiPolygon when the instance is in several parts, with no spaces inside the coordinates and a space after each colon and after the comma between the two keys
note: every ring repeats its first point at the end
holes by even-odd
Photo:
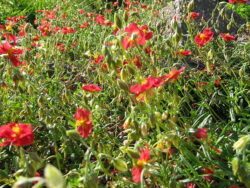
{"type": "Polygon", "coordinates": [[[137,159],[135,166],[132,168],[133,181],[139,183],[141,181],[141,172],[145,165],[150,160],[150,150],[147,147],[146,149],[141,149],[140,158],[137,159]]]}

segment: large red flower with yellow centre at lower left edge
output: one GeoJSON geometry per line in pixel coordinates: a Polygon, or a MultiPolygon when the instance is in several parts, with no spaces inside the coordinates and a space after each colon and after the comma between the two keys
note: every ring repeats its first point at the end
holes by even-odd
{"type": "Polygon", "coordinates": [[[13,144],[15,146],[26,146],[32,144],[34,134],[31,125],[11,122],[0,127],[0,138],[6,139],[0,146],[13,144]]]}

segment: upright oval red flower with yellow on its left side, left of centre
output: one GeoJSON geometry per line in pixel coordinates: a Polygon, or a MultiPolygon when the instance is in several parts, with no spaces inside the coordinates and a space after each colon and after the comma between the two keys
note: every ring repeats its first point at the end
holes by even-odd
{"type": "Polygon", "coordinates": [[[85,108],[77,108],[75,113],[76,126],[79,134],[87,138],[92,132],[92,121],[90,120],[91,113],[85,108]]]}

